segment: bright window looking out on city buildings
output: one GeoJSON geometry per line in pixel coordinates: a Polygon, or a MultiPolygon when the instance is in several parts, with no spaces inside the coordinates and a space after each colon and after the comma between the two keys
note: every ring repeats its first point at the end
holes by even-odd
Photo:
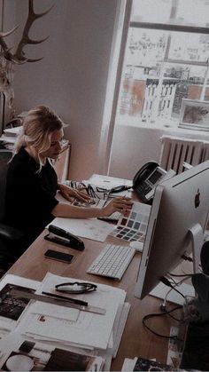
{"type": "Polygon", "coordinates": [[[116,123],[179,123],[182,99],[209,100],[209,0],[133,0],[116,123]]]}

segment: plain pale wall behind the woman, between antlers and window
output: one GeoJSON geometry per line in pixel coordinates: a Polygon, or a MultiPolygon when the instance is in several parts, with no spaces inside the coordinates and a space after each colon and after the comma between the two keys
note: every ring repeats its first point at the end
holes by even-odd
{"type": "MultiPolygon", "coordinates": [[[[16,22],[22,25],[27,17],[27,1],[5,1],[11,11],[16,6],[16,22]]],[[[25,48],[29,57],[43,60],[16,67],[17,113],[45,104],[69,123],[66,137],[72,142],[73,179],[89,178],[99,172],[98,146],[117,2],[35,0],[38,12],[50,4],[55,6],[43,19],[35,21],[30,36],[50,38],[25,48]]]]}

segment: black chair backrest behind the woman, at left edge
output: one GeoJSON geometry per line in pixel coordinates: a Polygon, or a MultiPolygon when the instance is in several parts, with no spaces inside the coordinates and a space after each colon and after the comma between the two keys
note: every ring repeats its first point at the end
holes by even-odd
{"type": "Polygon", "coordinates": [[[4,218],[6,174],[11,158],[12,152],[10,150],[0,149],[0,221],[4,218]]]}

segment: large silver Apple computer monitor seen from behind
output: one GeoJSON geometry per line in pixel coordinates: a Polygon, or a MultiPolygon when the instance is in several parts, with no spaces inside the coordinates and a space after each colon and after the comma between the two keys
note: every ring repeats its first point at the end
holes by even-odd
{"type": "Polygon", "coordinates": [[[143,299],[193,252],[197,272],[209,209],[209,161],[156,187],[135,285],[143,299]]]}

